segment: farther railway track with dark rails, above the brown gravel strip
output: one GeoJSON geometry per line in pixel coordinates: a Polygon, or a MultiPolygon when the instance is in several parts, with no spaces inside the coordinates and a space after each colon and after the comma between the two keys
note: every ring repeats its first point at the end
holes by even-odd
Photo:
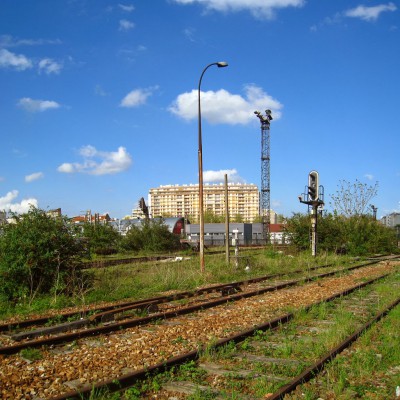
{"type": "MultiPolygon", "coordinates": [[[[14,354],[26,348],[58,345],[84,337],[93,337],[145,325],[159,319],[175,318],[178,315],[185,315],[201,309],[215,307],[229,301],[238,301],[263,293],[282,290],[304,282],[343,273],[344,271],[352,271],[373,265],[377,262],[377,260],[372,260],[346,268],[336,268],[322,274],[309,275],[305,278],[302,277],[295,280],[280,280],[279,282],[271,282],[271,279],[282,279],[286,275],[267,275],[245,281],[214,285],[193,292],[180,292],[169,296],[159,296],[152,299],[126,302],[117,306],[92,309],[91,315],[88,316],[85,316],[84,313],[66,313],[61,315],[62,319],[73,318],[73,320],[56,325],[51,324],[52,320],[47,318],[3,324],[0,325],[0,333],[3,334],[3,340],[0,339],[0,343],[6,342],[6,345],[3,344],[0,346],[0,354],[14,354]],[[186,300],[189,303],[186,306],[180,303],[180,300],[190,298],[192,300],[186,300]],[[140,313],[143,312],[146,316],[140,316],[140,313]],[[32,327],[36,328],[32,329],[32,327]],[[21,330],[21,328],[31,329],[21,330]]],[[[316,266],[311,268],[310,271],[318,271],[328,267],[331,267],[331,265],[316,266]]],[[[293,272],[293,274],[296,273],[303,273],[303,271],[293,272]]]]}

